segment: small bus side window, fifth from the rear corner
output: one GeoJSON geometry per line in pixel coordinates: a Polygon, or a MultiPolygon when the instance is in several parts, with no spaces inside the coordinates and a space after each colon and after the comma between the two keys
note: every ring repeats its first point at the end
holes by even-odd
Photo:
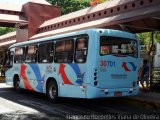
{"type": "Polygon", "coordinates": [[[14,63],[23,63],[25,61],[25,47],[15,48],[14,63]]]}

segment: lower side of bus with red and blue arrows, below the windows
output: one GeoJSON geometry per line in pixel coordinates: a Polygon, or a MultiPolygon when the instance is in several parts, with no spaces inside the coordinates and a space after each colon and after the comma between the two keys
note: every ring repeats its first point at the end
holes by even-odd
{"type": "Polygon", "coordinates": [[[46,93],[48,78],[54,78],[59,96],[85,98],[85,64],[22,64],[20,73],[22,88],[46,93]]]}

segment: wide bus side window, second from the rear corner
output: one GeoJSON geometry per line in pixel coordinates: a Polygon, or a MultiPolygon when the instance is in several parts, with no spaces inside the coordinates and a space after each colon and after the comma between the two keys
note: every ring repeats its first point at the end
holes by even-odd
{"type": "Polygon", "coordinates": [[[54,57],[55,62],[71,63],[73,61],[73,48],[73,40],[57,41],[54,57]]]}

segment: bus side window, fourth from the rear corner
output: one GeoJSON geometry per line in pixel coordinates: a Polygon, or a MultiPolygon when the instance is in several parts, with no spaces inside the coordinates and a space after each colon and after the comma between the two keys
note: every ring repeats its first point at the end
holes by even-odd
{"type": "Polygon", "coordinates": [[[35,63],[37,62],[37,45],[31,45],[26,47],[26,60],[25,62],[35,63]]]}

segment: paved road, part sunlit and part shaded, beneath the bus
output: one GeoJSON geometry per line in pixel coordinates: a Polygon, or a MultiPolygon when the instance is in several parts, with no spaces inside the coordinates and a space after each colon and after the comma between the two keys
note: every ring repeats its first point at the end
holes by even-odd
{"type": "Polygon", "coordinates": [[[95,100],[61,98],[59,103],[53,104],[48,102],[44,94],[29,91],[16,93],[5,83],[0,83],[0,119],[2,120],[54,120],[78,117],[95,119],[97,117],[98,119],[139,117],[144,119],[146,116],[160,118],[159,113],[158,108],[129,98],[95,100]],[[126,114],[127,116],[124,116],[126,114]]]}

